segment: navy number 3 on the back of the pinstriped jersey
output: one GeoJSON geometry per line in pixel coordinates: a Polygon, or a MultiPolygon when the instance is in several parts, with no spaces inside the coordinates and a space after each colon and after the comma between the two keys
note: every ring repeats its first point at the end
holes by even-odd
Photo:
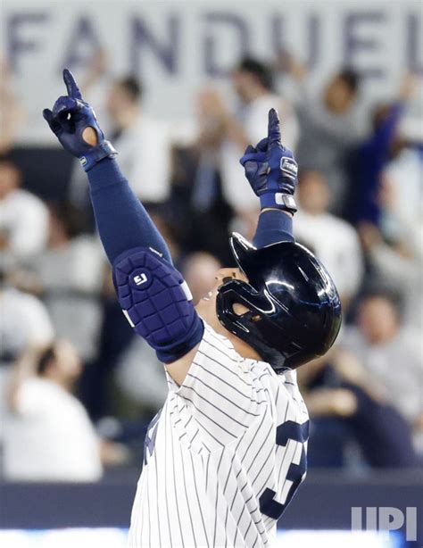
{"type": "Polygon", "coordinates": [[[295,464],[291,463],[286,473],[286,479],[292,482],[289,488],[288,494],[286,494],[286,501],[284,504],[275,501],[275,491],[266,488],[260,497],[260,511],[265,516],[269,516],[272,519],[279,519],[282,513],[285,511],[286,506],[289,504],[294,496],[295,491],[303,480],[303,476],[307,471],[307,459],[305,455],[305,442],[309,439],[309,421],[303,424],[298,424],[292,420],[287,420],[276,429],[276,443],[286,447],[289,440],[299,442],[302,444],[300,462],[295,464]]]}

